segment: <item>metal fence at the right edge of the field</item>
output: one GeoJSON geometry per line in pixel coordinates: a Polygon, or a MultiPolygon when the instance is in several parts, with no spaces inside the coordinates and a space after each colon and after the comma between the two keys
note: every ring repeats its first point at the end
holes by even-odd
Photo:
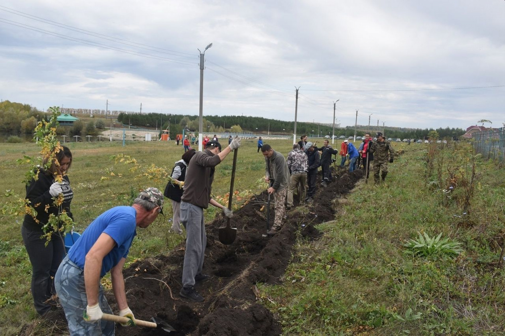
{"type": "Polygon", "coordinates": [[[505,127],[472,134],[475,151],[486,159],[505,161],[505,127]]]}

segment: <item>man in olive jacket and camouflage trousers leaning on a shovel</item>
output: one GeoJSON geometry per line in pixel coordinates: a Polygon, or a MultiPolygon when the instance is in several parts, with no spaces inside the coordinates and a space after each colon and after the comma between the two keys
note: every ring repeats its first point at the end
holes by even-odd
{"type": "Polygon", "coordinates": [[[261,152],[265,157],[265,181],[269,184],[267,192],[274,196],[275,219],[269,236],[275,235],[282,229],[282,220],[286,215],[286,194],[289,184],[289,168],[284,156],[272,149],[270,145],[263,145],[261,152]],[[271,184],[271,180],[273,184],[271,184]]]}

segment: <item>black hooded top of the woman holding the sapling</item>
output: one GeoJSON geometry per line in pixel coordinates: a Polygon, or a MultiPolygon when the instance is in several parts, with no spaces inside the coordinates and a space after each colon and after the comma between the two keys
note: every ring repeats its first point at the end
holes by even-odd
{"type": "Polygon", "coordinates": [[[70,180],[67,175],[63,176],[63,197],[64,201],[61,206],[56,206],[54,204],[53,196],[49,193],[49,187],[51,184],[55,183],[55,178],[51,173],[40,169],[38,173],[38,179],[32,179],[30,184],[26,186],[26,198],[30,201],[30,205],[37,212],[35,222],[31,215],[26,214],[23,220],[23,226],[30,231],[38,231],[43,233],[42,227],[47,224],[49,220],[49,215],[59,215],[63,210],[67,212],[67,215],[74,220],[72,212],[70,211],[70,203],[74,197],[74,192],[70,187],[70,180]],[[45,207],[47,212],[45,211],[45,207]]]}

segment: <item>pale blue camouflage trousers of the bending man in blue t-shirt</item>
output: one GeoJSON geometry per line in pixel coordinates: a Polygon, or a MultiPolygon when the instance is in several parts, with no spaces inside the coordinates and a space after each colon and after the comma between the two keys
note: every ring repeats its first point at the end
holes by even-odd
{"type": "MultiPolygon", "coordinates": [[[[88,304],[86,287],[84,286],[84,271],[68,257],[63,259],[55,275],[56,293],[65,311],[70,335],[114,335],[114,322],[99,320],[86,322],[82,318],[88,304]]],[[[98,290],[98,303],[104,313],[112,314],[111,307],[104,295],[104,288],[98,290]]]]}

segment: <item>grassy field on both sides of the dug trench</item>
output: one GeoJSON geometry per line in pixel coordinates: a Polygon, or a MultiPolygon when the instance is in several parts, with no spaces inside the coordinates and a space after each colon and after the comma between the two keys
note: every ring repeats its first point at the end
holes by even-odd
{"type": "MultiPolygon", "coordinates": [[[[291,149],[287,140],[267,143],[285,155],[291,149]]],[[[340,142],[334,147],[339,146],[340,142]]],[[[83,142],[71,143],[70,148],[77,231],[105,210],[130,204],[139,188],[163,189],[164,176],[183,153],[174,142],[135,142],[125,147],[83,142]],[[125,163],[130,158],[136,164],[125,163]]],[[[297,242],[283,285],[260,286],[262,300],[283,324],[284,334],[502,334],[505,330],[505,272],[497,264],[505,236],[505,169],[479,158],[472,161],[464,145],[395,144],[395,149],[405,153],[390,165],[387,183],[360,183],[338,200],[335,220],[319,226],[323,237],[297,242]],[[473,165],[478,179],[469,185],[465,174],[473,165]],[[470,208],[464,211],[466,190],[472,185],[470,208]],[[442,233],[442,239],[462,243],[463,252],[456,256],[435,248],[438,253],[408,253],[403,244],[416,239],[418,232],[429,237],[442,233]]],[[[27,167],[16,160],[36,156],[37,151],[33,144],[0,144],[2,191],[10,189],[24,197],[21,180],[27,167]]],[[[231,159],[217,168],[213,194],[218,199],[229,191],[231,159]]],[[[242,199],[259,193],[266,187],[263,176],[264,160],[256,142],[244,141],[235,190],[242,199]]],[[[1,197],[3,209],[15,199],[1,197]]],[[[165,253],[180,242],[180,236],[168,233],[170,206],[165,209],[166,217],[139,230],[129,262],[165,253]]],[[[214,215],[214,209],[207,211],[208,220],[214,215]]],[[[2,334],[17,334],[36,318],[21,223],[21,217],[0,215],[2,334]]]]}

